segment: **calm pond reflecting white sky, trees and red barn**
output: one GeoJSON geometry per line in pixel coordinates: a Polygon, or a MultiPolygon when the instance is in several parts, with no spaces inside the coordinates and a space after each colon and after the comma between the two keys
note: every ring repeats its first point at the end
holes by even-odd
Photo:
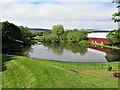
{"type": "MultiPolygon", "coordinates": [[[[17,53],[16,53],[17,54],[17,53]]],[[[65,62],[113,62],[120,61],[120,50],[75,44],[34,44],[18,54],[31,58],[65,62]]]]}

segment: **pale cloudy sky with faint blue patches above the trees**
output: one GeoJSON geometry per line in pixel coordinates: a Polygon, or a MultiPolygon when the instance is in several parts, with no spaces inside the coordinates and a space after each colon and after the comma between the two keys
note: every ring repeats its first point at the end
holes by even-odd
{"type": "Polygon", "coordinates": [[[115,29],[112,0],[0,0],[0,21],[29,28],[115,29]]]}

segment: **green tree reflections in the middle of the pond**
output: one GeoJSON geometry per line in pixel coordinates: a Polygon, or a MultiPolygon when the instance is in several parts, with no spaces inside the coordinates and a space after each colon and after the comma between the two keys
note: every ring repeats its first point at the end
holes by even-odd
{"type": "Polygon", "coordinates": [[[73,53],[80,53],[84,55],[87,52],[87,47],[85,46],[78,46],[76,44],[70,43],[43,43],[45,47],[48,47],[49,50],[52,50],[55,54],[62,54],[64,48],[67,50],[72,51],[73,53]]]}

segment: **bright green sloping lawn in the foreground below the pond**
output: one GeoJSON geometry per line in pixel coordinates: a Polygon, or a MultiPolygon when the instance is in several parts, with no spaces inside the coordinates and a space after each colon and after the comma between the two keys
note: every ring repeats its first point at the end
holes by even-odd
{"type": "Polygon", "coordinates": [[[107,66],[118,63],[63,63],[3,55],[2,88],[117,88],[118,79],[107,66]],[[108,64],[108,65],[107,65],[108,64]],[[99,67],[100,66],[100,67],[99,67]]]}

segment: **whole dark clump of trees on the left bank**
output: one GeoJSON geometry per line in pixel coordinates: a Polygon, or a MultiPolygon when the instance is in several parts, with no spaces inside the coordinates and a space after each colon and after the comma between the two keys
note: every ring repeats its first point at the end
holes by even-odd
{"type": "Polygon", "coordinates": [[[34,37],[38,33],[32,33],[28,27],[17,26],[8,21],[0,22],[2,27],[2,49],[11,47],[23,47],[34,43],[34,37]]]}

